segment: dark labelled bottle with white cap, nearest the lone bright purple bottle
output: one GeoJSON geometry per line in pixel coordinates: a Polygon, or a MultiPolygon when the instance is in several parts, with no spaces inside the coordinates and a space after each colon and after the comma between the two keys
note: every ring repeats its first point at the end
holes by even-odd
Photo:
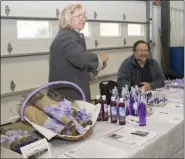
{"type": "Polygon", "coordinates": [[[119,101],[119,125],[126,124],[126,107],[123,98],[119,101]]]}

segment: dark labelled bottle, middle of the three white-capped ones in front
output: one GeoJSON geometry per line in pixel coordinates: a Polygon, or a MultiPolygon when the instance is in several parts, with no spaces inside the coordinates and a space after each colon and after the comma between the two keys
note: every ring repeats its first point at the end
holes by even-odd
{"type": "Polygon", "coordinates": [[[115,97],[111,97],[110,114],[111,123],[117,123],[117,103],[115,97]]]}

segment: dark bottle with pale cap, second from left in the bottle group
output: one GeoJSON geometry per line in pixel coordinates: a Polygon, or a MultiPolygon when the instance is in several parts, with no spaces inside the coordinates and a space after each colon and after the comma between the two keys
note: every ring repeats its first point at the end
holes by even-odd
{"type": "Polygon", "coordinates": [[[109,120],[108,104],[105,95],[102,95],[101,107],[102,107],[102,121],[108,121],[109,120]]]}

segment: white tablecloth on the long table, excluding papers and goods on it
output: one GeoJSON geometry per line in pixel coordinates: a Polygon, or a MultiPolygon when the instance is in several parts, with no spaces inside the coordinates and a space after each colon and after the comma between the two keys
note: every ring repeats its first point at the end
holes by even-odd
{"type": "MultiPolygon", "coordinates": [[[[182,101],[182,100],[181,100],[182,101]]],[[[51,142],[53,157],[59,157],[66,151],[95,140],[105,145],[110,145],[117,149],[122,149],[122,157],[129,158],[170,158],[183,157],[184,149],[184,104],[181,102],[169,102],[165,107],[153,107],[154,114],[157,112],[166,112],[171,118],[177,118],[178,121],[157,120],[154,116],[147,119],[147,125],[144,127],[127,123],[125,126],[112,124],[109,122],[97,122],[93,134],[84,141],[62,141],[55,139],[51,142]],[[138,128],[157,132],[158,135],[147,141],[141,146],[134,146],[123,142],[118,142],[104,137],[106,134],[118,128],[138,128]]],[[[89,155],[89,157],[91,157],[89,155]]]]}

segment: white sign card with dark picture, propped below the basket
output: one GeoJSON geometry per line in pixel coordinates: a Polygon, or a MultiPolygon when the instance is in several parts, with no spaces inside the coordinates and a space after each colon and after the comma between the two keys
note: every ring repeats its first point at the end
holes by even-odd
{"type": "Polygon", "coordinates": [[[51,158],[51,149],[47,140],[41,139],[21,147],[23,158],[51,158]]]}

